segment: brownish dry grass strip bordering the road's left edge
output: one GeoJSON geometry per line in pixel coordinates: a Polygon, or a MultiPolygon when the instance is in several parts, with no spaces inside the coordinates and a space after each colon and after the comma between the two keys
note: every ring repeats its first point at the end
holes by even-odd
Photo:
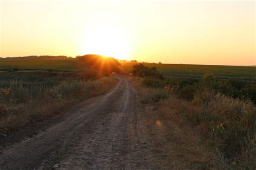
{"type": "Polygon", "coordinates": [[[49,118],[79,101],[109,91],[117,81],[114,78],[104,77],[91,82],[62,84],[58,89],[51,89],[51,92],[43,95],[42,98],[35,99],[28,93],[28,97],[22,96],[22,99],[26,99],[23,102],[17,103],[13,99],[2,102],[0,104],[0,132],[7,133],[35,121],[49,118]],[[77,91],[82,87],[82,91],[77,91]],[[63,96],[64,92],[65,96],[63,96]]]}

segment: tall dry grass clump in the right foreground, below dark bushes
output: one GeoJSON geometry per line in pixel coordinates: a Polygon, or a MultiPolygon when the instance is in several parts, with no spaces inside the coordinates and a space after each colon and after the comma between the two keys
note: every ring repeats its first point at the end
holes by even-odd
{"type": "Polygon", "coordinates": [[[205,91],[192,102],[170,97],[159,107],[166,119],[195,131],[212,151],[216,149],[225,167],[256,167],[256,108],[251,101],[205,91]]]}

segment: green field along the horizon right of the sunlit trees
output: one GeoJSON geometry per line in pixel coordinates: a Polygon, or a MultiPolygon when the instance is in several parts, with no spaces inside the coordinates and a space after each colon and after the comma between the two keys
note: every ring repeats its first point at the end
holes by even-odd
{"type": "MultiPolygon", "coordinates": [[[[122,63],[122,72],[130,72],[135,63],[122,63]]],[[[156,66],[164,76],[201,78],[206,73],[213,73],[217,78],[238,78],[256,80],[256,67],[253,66],[220,66],[220,65],[188,65],[188,64],[154,64],[145,63],[145,66],[156,66]]]]}

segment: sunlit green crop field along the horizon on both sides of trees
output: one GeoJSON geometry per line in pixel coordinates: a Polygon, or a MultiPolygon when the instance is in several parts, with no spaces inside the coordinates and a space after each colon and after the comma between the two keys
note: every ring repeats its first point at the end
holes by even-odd
{"type": "MultiPolygon", "coordinates": [[[[121,63],[121,71],[129,73],[136,63],[121,63]]],[[[256,67],[253,66],[219,66],[219,65],[188,65],[188,64],[154,64],[164,76],[181,78],[201,78],[206,73],[213,73],[217,78],[238,78],[240,80],[256,80],[256,67]]],[[[0,71],[8,70],[53,70],[53,71],[84,71],[88,67],[75,58],[69,59],[24,59],[0,60],[0,71]]]]}

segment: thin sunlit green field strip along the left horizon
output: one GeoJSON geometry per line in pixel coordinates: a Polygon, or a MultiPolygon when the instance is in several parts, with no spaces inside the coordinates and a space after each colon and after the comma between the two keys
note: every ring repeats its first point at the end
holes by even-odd
{"type": "Polygon", "coordinates": [[[75,58],[0,60],[0,70],[16,68],[25,70],[79,71],[85,70],[86,65],[75,58]]]}

